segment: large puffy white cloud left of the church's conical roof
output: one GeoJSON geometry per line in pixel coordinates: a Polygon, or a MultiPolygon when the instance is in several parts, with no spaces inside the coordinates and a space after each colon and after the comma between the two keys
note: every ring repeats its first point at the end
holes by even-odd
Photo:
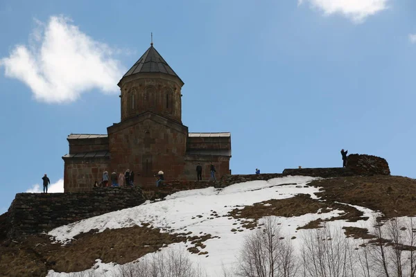
{"type": "Polygon", "coordinates": [[[64,17],[35,23],[28,46],[16,45],[0,59],[7,77],[24,82],[35,99],[50,103],[74,101],[91,89],[119,92],[116,84],[125,71],[114,58],[119,49],[95,41],[64,17]]]}

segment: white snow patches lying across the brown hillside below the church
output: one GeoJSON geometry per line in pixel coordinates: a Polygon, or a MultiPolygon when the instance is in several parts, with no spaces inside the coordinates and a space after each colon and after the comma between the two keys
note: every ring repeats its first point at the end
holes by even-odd
{"type": "MultiPolygon", "coordinates": [[[[134,225],[150,224],[150,226],[161,229],[168,233],[211,234],[213,237],[206,240],[204,244],[206,251],[204,255],[197,255],[187,252],[189,258],[201,265],[208,276],[222,276],[223,268],[231,268],[236,264],[237,254],[241,249],[246,235],[254,230],[244,229],[242,221],[227,216],[235,208],[244,208],[254,203],[270,199],[287,199],[297,194],[308,194],[311,198],[317,199],[315,193],[319,188],[308,186],[313,177],[281,177],[268,181],[249,181],[241,184],[234,184],[223,189],[204,188],[186,190],[173,195],[159,202],[146,202],[141,206],[128,208],[121,211],[107,213],[87,220],[82,220],[66,226],[61,226],[49,232],[58,242],[70,242],[74,236],[80,233],[87,233],[93,229],[104,231],[105,229],[121,229],[134,225]],[[214,214],[214,216],[213,216],[214,214]],[[234,231],[232,231],[234,229],[234,231]]],[[[363,217],[368,220],[357,222],[333,221],[327,224],[340,228],[341,226],[357,226],[370,229],[375,217],[379,213],[368,208],[354,206],[358,211],[364,213],[363,217]]],[[[299,247],[299,238],[307,230],[297,227],[304,226],[312,220],[324,219],[340,215],[343,211],[332,210],[326,213],[306,214],[298,217],[279,217],[281,233],[287,237],[296,237],[293,240],[295,247],[299,247]]],[[[248,220],[250,221],[250,219],[248,220]]],[[[149,226],[149,228],[150,228],[149,226]]],[[[189,243],[180,242],[164,247],[162,251],[170,248],[187,249],[189,243]]],[[[151,254],[148,254],[151,255],[151,254]]],[[[119,270],[120,265],[114,263],[103,264],[100,261],[94,270],[101,276],[113,276],[119,270]]],[[[68,276],[67,273],[50,271],[49,277],[68,276]]]]}

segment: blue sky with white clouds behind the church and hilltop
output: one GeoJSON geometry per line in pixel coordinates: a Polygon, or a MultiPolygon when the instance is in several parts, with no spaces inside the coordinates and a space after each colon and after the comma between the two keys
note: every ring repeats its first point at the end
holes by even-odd
{"type": "Polygon", "coordinates": [[[185,82],[184,125],[232,133],[233,173],[340,166],[345,148],[415,177],[415,12],[411,0],[1,0],[0,213],[44,173],[62,179],[68,134],[119,122],[116,84],[150,32],[185,82]]]}

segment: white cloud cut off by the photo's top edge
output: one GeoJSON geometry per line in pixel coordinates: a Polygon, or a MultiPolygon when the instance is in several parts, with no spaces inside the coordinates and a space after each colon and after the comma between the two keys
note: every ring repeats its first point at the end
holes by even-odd
{"type": "Polygon", "coordinates": [[[340,13],[355,23],[361,23],[366,17],[385,10],[389,0],[298,0],[298,5],[309,1],[325,15],[340,13]]]}

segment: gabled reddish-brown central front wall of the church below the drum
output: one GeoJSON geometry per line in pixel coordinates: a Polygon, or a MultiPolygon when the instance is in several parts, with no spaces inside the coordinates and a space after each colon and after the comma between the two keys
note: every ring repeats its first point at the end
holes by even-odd
{"type": "Polygon", "coordinates": [[[140,173],[135,181],[153,186],[159,170],[166,177],[184,179],[187,127],[152,113],[130,118],[107,128],[111,170],[140,173]]]}

